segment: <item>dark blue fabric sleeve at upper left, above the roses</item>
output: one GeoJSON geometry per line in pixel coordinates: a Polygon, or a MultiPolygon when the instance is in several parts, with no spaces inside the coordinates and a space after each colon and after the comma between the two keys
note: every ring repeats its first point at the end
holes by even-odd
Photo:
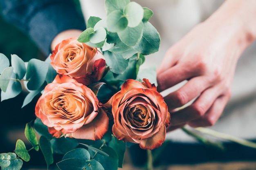
{"type": "Polygon", "coordinates": [[[0,0],[4,18],[27,33],[48,55],[53,38],[67,29],[85,29],[73,0],[0,0]]]}

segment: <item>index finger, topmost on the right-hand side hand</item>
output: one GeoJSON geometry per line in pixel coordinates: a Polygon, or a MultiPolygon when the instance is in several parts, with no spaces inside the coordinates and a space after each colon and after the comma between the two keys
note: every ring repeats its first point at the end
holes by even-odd
{"type": "Polygon", "coordinates": [[[164,91],[186,79],[191,78],[189,69],[182,64],[168,68],[163,73],[157,75],[157,91],[164,91]]]}

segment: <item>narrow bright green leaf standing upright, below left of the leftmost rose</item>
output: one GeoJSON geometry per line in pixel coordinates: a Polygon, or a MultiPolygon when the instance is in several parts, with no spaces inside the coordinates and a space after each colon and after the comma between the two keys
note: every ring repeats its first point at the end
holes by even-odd
{"type": "Polygon", "coordinates": [[[34,149],[38,151],[39,150],[38,140],[36,138],[36,132],[34,131],[34,128],[32,127],[31,122],[26,124],[25,136],[27,137],[27,140],[30,142],[30,144],[34,147],[34,149]]]}

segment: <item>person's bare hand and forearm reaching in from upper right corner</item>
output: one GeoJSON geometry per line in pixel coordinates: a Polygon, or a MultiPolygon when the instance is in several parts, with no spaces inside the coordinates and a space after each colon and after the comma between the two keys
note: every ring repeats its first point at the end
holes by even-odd
{"type": "Polygon", "coordinates": [[[189,124],[212,126],[231,95],[237,61],[256,39],[256,1],[227,0],[166,52],[157,70],[159,91],[187,83],[165,97],[168,130],[189,124]],[[192,99],[190,106],[176,111],[192,99]]]}

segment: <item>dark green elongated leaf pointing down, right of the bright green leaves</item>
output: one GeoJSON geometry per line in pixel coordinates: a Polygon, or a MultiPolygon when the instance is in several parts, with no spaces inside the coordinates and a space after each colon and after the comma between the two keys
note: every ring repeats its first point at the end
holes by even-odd
{"type": "Polygon", "coordinates": [[[52,146],[45,136],[40,137],[39,146],[45,157],[45,161],[47,163],[47,169],[48,169],[49,165],[53,163],[52,146]]]}

